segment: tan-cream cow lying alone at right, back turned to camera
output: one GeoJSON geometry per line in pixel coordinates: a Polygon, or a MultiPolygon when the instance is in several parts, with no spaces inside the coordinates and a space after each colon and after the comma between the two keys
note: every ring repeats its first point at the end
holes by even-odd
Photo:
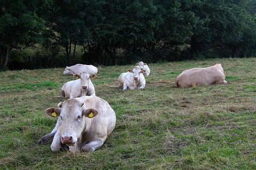
{"type": "Polygon", "coordinates": [[[221,64],[214,63],[207,68],[195,68],[183,71],[175,80],[175,87],[205,86],[208,84],[227,84],[221,64]]]}

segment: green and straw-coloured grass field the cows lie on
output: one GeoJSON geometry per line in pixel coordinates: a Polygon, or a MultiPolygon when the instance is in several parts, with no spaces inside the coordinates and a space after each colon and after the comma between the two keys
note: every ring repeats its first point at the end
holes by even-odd
{"type": "Polygon", "coordinates": [[[96,95],[117,115],[114,131],[94,152],[51,151],[37,141],[55,127],[71,75],[61,69],[0,72],[0,169],[256,169],[255,58],[148,64],[139,91],[122,91],[132,65],[98,67],[96,95]],[[228,84],[175,88],[176,76],[222,63],[228,84]]]}

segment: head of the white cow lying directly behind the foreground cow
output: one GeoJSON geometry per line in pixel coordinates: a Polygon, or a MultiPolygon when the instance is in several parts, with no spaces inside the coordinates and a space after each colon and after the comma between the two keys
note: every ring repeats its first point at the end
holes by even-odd
{"type": "Polygon", "coordinates": [[[96,78],[95,74],[90,75],[87,71],[84,71],[80,74],[75,74],[74,75],[76,78],[80,79],[81,82],[81,90],[83,92],[87,92],[90,86],[90,79],[96,78]]]}

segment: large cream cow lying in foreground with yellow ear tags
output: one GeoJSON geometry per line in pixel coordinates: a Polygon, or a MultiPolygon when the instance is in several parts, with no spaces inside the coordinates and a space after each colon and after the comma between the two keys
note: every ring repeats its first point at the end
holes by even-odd
{"type": "Polygon", "coordinates": [[[100,97],[82,96],[58,106],[46,110],[48,116],[59,117],[55,128],[38,140],[44,143],[54,136],[52,151],[59,151],[63,144],[72,152],[94,151],[103,145],[115,127],[115,112],[100,97]]]}

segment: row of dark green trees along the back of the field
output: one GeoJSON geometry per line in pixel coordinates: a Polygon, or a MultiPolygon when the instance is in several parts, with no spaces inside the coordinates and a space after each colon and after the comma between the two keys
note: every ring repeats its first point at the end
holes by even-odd
{"type": "Polygon", "coordinates": [[[254,57],[255,0],[0,0],[0,65],[254,57]]]}

